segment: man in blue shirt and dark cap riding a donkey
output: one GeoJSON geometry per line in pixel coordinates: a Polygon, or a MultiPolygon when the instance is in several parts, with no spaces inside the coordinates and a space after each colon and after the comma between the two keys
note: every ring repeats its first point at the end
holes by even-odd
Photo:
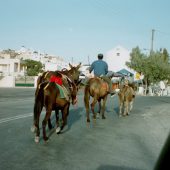
{"type": "Polygon", "coordinates": [[[112,81],[111,81],[112,75],[108,74],[108,64],[105,61],[103,61],[103,54],[98,54],[98,60],[92,63],[89,72],[91,73],[92,71],[94,71],[95,77],[100,77],[105,82],[107,82],[109,86],[108,93],[110,93],[111,97],[113,97],[116,92],[112,88],[112,81]]]}

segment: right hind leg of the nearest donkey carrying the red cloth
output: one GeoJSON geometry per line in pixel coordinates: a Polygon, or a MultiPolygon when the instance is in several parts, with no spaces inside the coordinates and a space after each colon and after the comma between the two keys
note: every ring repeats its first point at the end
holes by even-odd
{"type": "Polygon", "coordinates": [[[44,139],[44,141],[47,141],[47,140],[48,140],[48,137],[47,137],[47,135],[46,135],[46,125],[47,125],[48,119],[49,119],[50,116],[51,116],[51,112],[52,112],[52,107],[48,107],[48,108],[46,109],[45,118],[44,118],[44,120],[42,121],[42,129],[43,129],[43,139],[44,139]]]}

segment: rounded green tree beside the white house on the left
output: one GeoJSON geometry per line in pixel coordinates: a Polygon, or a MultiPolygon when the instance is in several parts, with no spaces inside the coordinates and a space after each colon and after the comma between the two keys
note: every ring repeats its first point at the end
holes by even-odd
{"type": "Polygon", "coordinates": [[[38,73],[41,73],[43,71],[43,65],[39,61],[34,60],[23,60],[24,65],[26,66],[26,74],[28,76],[37,76],[38,73]]]}

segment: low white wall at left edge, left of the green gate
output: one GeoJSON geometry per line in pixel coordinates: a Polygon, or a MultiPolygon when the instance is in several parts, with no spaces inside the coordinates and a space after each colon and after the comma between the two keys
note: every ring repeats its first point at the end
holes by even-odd
{"type": "Polygon", "coordinates": [[[14,76],[1,77],[0,87],[15,87],[15,77],[14,76]]]}

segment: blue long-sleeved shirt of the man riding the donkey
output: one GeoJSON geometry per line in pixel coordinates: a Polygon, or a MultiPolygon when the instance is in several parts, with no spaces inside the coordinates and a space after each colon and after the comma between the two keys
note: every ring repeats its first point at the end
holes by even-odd
{"type": "Polygon", "coordinates": [[[106,75],[108,73],[108,65],[103,60],[96,60],[90,67],[90,73],[94,70],[95,76],[106,75]]]}

